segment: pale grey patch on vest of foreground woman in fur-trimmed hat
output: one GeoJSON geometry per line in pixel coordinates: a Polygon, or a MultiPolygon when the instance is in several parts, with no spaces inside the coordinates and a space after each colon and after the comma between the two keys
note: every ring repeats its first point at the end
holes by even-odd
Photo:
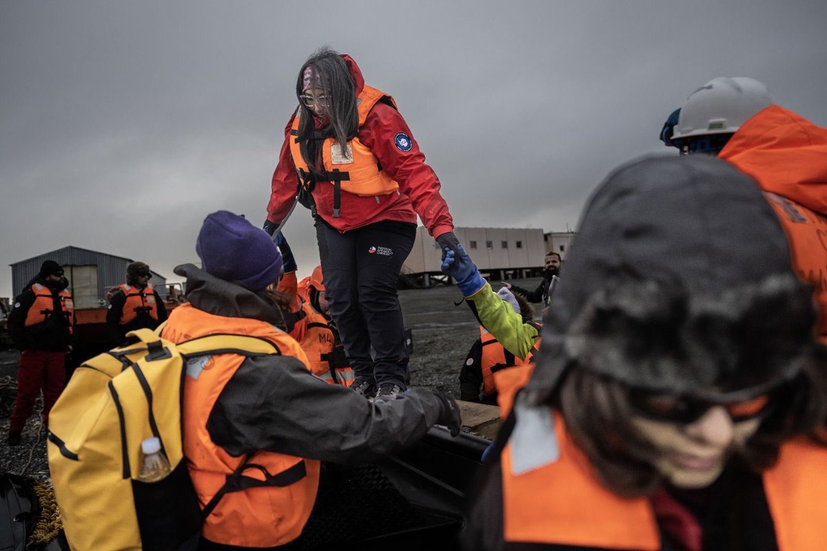
{"type": "Polygon", "coordinates": [[[548,406],[528,407],[514,404],[517,417],[509,438],[511,445],[511,472],[528,473],[560,458],[554,417],[548,406]]]}

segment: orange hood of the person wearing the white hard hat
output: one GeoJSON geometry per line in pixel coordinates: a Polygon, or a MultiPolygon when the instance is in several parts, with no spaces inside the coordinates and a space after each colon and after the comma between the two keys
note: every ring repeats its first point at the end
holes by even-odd
{"type": "Polygon", "coordinates": [[[718,157],[764,191],[827,214],[827,128],[772,105],[746,121],[718,157]]]}

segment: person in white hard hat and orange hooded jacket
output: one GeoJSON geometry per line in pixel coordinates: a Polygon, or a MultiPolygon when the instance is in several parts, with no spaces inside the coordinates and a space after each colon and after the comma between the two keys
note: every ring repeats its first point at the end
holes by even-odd
{"type": "Polygon", "coordinates": [[[758,80],[719,77],[672,113],[661,140],[755,178],[790,241],[796,273],[814,288],[827,344],[827,128],[776,105],[758,80]]]}

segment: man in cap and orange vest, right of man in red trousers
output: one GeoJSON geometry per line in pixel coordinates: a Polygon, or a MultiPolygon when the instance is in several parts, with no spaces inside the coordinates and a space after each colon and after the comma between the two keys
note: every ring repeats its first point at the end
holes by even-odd
{"type": "Polygon", "coordinates": [[[127,283],[117,287],[109,299],[106,329],[112,346],[123,344],[131,330],[154,330],[166,320],[166,308],[150,283],[152,272],[143,262],[127,266],[127,283]]]}

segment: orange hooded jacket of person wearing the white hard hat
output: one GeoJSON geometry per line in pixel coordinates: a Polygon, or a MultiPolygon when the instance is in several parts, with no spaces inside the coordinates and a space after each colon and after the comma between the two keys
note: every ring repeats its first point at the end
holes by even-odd
{"type": "Polygon", "coordinates": [[[827,128],[772,105],[743,123],[718,157],[755,178],[775,209],[796,273],[815,288],[827,343],[827,128]]]}

